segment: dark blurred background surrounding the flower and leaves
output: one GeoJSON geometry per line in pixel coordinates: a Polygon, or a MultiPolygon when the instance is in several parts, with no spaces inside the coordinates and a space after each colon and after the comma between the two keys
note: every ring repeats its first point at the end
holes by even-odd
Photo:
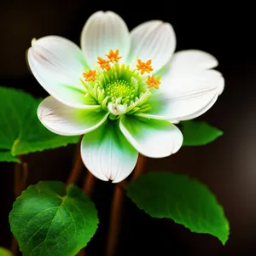
{"type": "MultiPolygon", "coordinates": [[[[225,246],[214,237],[191,233],[171,220],[150,218],[125,200],[116,255],[255,255],[256,254],[256,41],[253,7],[246,1],[225,6],[217,2],[179,1],[1,1],[0,84],[47,96],[26,67],[25,52],[32,38],[59,35],[79,44],[85,20],[96,10],[113,10],[132,29],[146,20],[170,22],[177,50],[202,49],[215,55],[225,89],[218,102],[200,119],[224,131],[203,147],[182,148],[177,154],[148,160],[148,171],[189,173],[217,195],[230,220],[225,246]]],[[[44,179],[66,181],[74,146],[28,156],[28,183],[44,179]]],[[[13,165],[1,163],[0,246],[9,247],[8,214],[14,201],[13,165]]],[[[93,201],[101,224],[87,254],[103,255],[113,184],[96,181],[93,201]]]]}

